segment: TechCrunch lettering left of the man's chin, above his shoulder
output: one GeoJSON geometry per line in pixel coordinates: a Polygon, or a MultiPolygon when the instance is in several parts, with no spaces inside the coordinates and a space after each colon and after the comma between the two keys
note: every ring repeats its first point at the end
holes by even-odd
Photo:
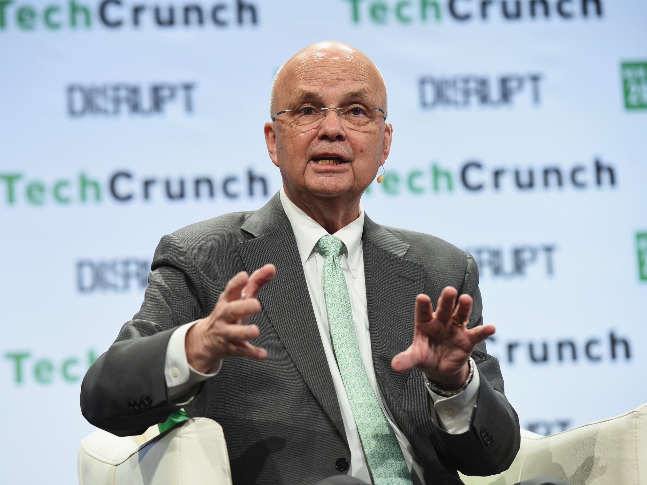
{"type": "MultiPolygon", "coordinates": [[[[20,172],[0,172],[0,186],[4,188],[3,203],[15,207],[27,205],[69,205],[71,203],[102,203],[107,197],[118,203],[134,201],[212,201],[215,197],[237,199],[258,195],[267,197],[267,177],[250,168],[243,175],[225,175],[216,179],[210,175],[195,177],[140,177],[121,170],[107,177],[105,183],[81,172],[78,177],[65,177],[52,182],[25,177],[20,172]]],[[[0,189],[2,190],[2,189],[0,189]]],[[[0,194],[1,197],[1,194],[0,194]]]]}

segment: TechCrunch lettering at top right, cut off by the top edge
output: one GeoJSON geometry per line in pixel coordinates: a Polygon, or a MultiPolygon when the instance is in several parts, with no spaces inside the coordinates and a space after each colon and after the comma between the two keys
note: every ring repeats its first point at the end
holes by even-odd
{"type": "Polygon", "coordinates": [[[443,18],[457,22],[492,19],[523,21],[530,19],[574,19],[602,17],[602,0],[346,0],[351,21],[360,23],[427,23],[443,18]]]}

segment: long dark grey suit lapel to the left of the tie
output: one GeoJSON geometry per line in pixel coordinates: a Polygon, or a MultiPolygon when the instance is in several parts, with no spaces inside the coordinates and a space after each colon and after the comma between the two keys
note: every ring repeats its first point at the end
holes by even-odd
{"type": "Polygon", "coordinates": [[[276,276],[259,297],[263,310],[336,433],[346,442],[296,239],[278,194],[252,214],[241,229],[256,236],[237,245],[248,273],[267,263],[276,266],[276,276]]]}

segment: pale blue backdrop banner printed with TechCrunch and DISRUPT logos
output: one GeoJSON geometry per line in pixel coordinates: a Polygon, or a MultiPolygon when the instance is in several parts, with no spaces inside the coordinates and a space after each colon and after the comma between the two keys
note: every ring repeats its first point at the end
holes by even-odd
{"type": "Polygon", "coordinates": [[[522,427],[647,402],[646,18],[640,0],[0,0],[3,482],[75,482],[80,382],[157,242],[279,190],[270,84],[325,39],[388,87],[367,214],[474,254],[522,427]]]}

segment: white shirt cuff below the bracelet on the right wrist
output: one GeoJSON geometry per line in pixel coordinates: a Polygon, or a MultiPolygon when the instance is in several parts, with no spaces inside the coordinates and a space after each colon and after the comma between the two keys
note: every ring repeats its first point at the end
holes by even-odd
{"type": "Polygon", "coordinates": [[[432,412],[432,416],[433,414],[438,416],[438,420],[443,424],[447,433],[461,434],[470,429],[472,409],[476,405],[479,386],[481,385],[479,369],[476,367],[474,360],[472,360],[472,366],[474,367],[472,381],[455,396],[444,398],[425,387],[432,398],[433,411],[435,411],[435,413],[432,412]]]}

